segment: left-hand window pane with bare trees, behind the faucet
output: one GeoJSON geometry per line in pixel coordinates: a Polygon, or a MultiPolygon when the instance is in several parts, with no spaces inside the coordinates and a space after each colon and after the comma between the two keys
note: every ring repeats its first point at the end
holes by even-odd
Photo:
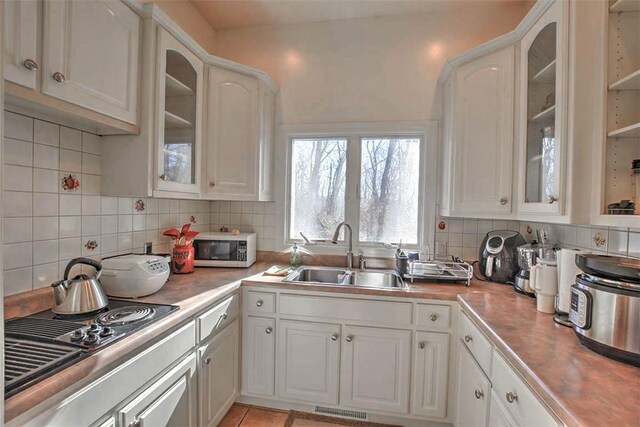
{"type": "Polygon", "coordinates": [[[291,223],[289,237],[300,232],[330,239],[345,218],[347,140],[294,139],[291,150],[291,223]]]}

